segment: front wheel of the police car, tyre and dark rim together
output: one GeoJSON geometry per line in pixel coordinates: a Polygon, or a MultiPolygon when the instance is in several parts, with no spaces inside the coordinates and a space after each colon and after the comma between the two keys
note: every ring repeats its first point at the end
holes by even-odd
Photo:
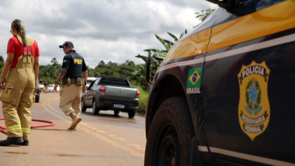
{"type": "Polygon", "coordinates": [[[193,123],[185,98],[165,100],[148,131],[145,165],[190,165],[193,137],[193,123]]]}

